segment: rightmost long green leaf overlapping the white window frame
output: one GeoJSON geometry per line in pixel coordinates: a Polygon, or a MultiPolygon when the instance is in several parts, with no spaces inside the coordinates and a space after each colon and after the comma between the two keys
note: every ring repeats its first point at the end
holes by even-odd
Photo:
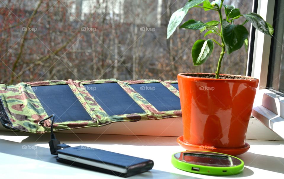
{"type": "Polygon", "coordinates": [[[260,32],[270,35],[272,36],[273,34],[273,28],[270,24],[268,24],[267,22],[264,21],[264,19],[254,13],[254,12],[250,12],[249,14],[243,14],[243,16],[251,22],[251,24],[260,32]]]}

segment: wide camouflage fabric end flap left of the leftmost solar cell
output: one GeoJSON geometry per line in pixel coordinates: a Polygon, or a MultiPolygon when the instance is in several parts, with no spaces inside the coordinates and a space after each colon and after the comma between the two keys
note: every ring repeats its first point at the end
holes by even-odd
{"type": "Polygon", "coordinates": [[[0,84],[0,89],[4,109],[16,130],[41,133],[44,131],[43,127],[50,124],[50,121],[47,120],[43,127],[38,125],[38,122],[48,115],[29,84],[0,84]]]}

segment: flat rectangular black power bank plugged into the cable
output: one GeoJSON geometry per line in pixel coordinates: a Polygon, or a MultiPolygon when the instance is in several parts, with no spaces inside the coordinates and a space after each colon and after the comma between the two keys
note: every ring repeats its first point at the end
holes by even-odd
{"type": "Polygon", "coordinates": [[[94,149],[86,146],[67,147],[57,150],[58,162],[67,163],[102,173],[129,177],[151,170],[152,160],[94,149]]]}

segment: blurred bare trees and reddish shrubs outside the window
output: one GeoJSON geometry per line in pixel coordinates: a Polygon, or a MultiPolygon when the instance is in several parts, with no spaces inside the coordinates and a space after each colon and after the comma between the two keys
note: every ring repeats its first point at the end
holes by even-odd
{"type": "MultiPolygon", "coordinates": [[[[191,58],[194,41],[204,39],[206,31],[178,29],[166,40],[171,14],[186,2],[2,0],[0,82],[170,80],[181,72],[214,73],[221,49],[214,50],[201,66],[193,66],[191,58]]],[[[233,4],[245,14],[251,12],[252,2],[225,0],[224,4],[233,4]]],[[[189,12],[184,22],[218,18],[217,12],[205,12],[202,8],[189,12]]],[[[250,23],[246,27],[249,30],[250,23]]],[[[245,75],[247,57],[244,48],[225,54],[221,72],[245,75]]]]}

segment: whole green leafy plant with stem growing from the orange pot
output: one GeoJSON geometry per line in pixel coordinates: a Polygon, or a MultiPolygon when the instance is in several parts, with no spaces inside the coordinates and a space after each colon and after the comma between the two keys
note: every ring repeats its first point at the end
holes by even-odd
{"type": "Polygon", "coordinates": [[[246,22],[251,22],[257,30],[263,32],[264,34],[270,36],[272,36],[273,34],[272,26],[269,23],[265,22],[260,15],[253,12],[248,14],[241,14],[240,10],[235,8],[235,6],[223,5],[223,2],[224,0],[216,0],[213,2],[210,2],[209,0],[189,0],[183,8],[178,9],[172,14],[167,28],[168,39],[178,27],[178,25],[182,22],[188,10],[192,7],[203,8],[205,11],[213,10],[218,12],[220,21],[212,20],[204,23],[191,19],[179,27],[185,29],[200,30],[200,32],[207,30],[207,32],[204,34],[204,37],[211,33],[220,36],[221,43],[219,43],[214,38],[208,40],[196,40],[192,47],[192,58],[193,64],[195,66],[203,64],[208,59],[213,51],[214,43],[222,48],[217,70],[215,71],[216,78],[219,78],[221,62],[224,57],[225,51],[230,54],[233,51],[240,49],[243,44],[245,45],[246,49],[248,48],[249,32],[246,30],[246,27],[243,26],[246,22]],[[201,3],[203,3],[203,6],[199,6],[199,4],[201,3]],[[222,7],[224,7],[226,19],[222,18],[222,7]],[[235,25],[234,20],[240,17],[245,17],[246,20],[241,25],[235,25]]]}

